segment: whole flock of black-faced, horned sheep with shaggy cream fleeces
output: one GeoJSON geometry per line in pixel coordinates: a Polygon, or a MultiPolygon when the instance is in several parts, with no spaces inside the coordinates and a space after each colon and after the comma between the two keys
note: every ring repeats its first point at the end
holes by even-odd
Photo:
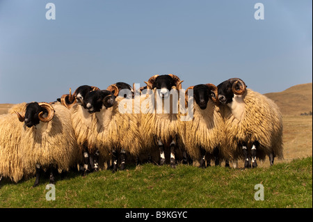
{"type": "Polygon", "coordinates": [[[0,116],[0,180],[35,175],[35,187],[40,172],[50,170],[55,183],[55,169],[76,166],[86,175],[141,161],[204,168],[206,160],[236,166],[243,159],[250,168],[266,156],[271,165],[283,158],[278,106],[241,79],[183,90],[179,77],[166,74],[145,84],[85,85],[56,102],[15,104],[0,116]]]}

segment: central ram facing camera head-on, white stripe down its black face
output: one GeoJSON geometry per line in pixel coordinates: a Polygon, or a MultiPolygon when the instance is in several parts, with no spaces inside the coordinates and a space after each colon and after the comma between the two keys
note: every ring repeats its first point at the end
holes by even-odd
{"type": "Polygon", "coordinates": [[[142,112],[145,113],[141,116],[141,130],[147,138],[154,138],[154,140],[145,139],[148,143],[147,146],[159,147],[159,164],[163,165],[166,161],[164,146],[169,145],[170,166],[172,168],[175,168],[176,164],[175,146],[180,143],[180,141],[178,138],[178,98],[174,96],[170,97],[172,93],[170,93],[170,91],[172,89],[182,89],[182,82],[183,81],[174,74],[156,74],[148,81],[145,81],[145,84],[147,84],[147,93],[143,95],[145,100],[141,101],[141,109],[144,108],[142,112]],[[177,99],[177,101],[175,101],[175,99],[177,99]],[[158,101],[160,100],[161,102],[159,102],[158,105],[158,101]],[[166,100],[172,100],[172,104],[166,106],[166,100]],[[157,106],[154,105],[155,102],[157,102],[157,106]],[[159,109],[160,107],[161,109],[159,109]],[[145,108],[147,109],[145,110],[145,108]]]}

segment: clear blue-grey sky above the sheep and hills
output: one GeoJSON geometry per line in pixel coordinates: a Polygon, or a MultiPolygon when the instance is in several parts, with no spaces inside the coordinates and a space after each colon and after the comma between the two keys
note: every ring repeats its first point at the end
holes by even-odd
{"type": "Polygon", "coordinates": [[[182,88],[239,77],[259,93],[312,82],[312,1],[0,0],[0,103],[170,73],[182,88]]]}

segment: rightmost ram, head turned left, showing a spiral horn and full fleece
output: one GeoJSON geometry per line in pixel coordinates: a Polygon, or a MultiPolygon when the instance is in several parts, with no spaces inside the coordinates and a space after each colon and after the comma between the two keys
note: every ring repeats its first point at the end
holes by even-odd
{"type": "Polygon", "coordinates": [[[274,158],[283,158],[282,115],[268,97],[257,93],[239,78],[228,79],[218,85],[218,103],[225,118],[227,145],[234,159],[243,157],[245,168],[257,167],[257,158],[270,165],[274,158]]]}

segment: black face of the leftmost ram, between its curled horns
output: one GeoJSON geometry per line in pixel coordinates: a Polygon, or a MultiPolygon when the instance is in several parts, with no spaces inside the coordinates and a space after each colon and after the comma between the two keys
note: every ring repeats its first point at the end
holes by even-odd
{"type": "Polygon", "coordinates": [[[24,120],[26,127],[32,127],[39,124],[40,120],[38,118],[38,115],[41,111],[43,111],[44,114],[47,113],[47,110],[42,109],[38,102],[31,102],[26,105],[24,120]]]}

